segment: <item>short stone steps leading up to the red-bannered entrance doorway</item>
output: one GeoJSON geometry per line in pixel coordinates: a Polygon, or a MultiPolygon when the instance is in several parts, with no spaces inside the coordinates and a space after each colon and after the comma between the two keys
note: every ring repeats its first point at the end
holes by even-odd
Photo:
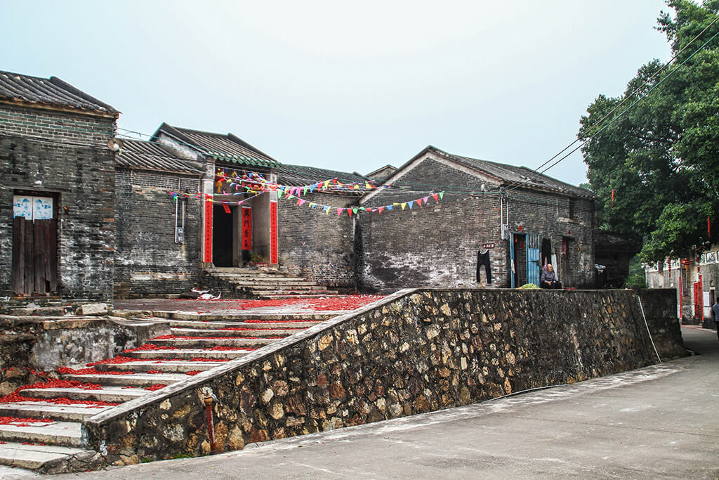
{"type": "Polygon", "coordinates": [[[201,274],[203,289],[228,299],[317,298],[339,291],[272,268],[206,268],[201,274]]]}

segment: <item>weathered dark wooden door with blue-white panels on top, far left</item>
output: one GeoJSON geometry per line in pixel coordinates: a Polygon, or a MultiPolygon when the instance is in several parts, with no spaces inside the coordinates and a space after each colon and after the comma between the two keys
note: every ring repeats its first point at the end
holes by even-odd
{"type": "Polygon", "coordinates": [[[58,289],[58,222],[49,196],[13,196],[12,290],[44,295],[58,289]]]}

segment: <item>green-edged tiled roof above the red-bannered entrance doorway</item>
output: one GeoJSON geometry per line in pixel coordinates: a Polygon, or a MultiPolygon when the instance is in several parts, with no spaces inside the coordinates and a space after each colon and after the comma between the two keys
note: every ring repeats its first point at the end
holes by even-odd
{"type": "MultiPolygon", "coordinates": [[[[202,153],[216,160],[239,165],[278,168],[280,162],[266,153],[249,145],[241,138],[228,133],[226,135],[212,132],[201,132],[188,128],[173,127],[163,123],[158,132],[165,132],[176,137],[180,142],[192,145],[202,153]]],[[[157,133],[155,134],[157,136],[157,133]]]]}

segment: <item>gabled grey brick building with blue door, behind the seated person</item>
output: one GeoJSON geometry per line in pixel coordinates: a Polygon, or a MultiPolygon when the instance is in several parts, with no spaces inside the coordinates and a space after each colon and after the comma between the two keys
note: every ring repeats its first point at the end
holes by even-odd
{"type": "MultiPolygon", "coordinates": [[[[361,200],[368,209],[394,207],[359,217],[363,289],[476,286],[480,252],[487,253],[482,258],[488,258],[494,286],[539,284],[540,265],[547,261],[564,286],[594,285],[594,200],[588,190],[434,147],[385,183],[391,187],[361,200]],[[432,195],[439,191],[438,202],[432,195]],[[414,199],[420,201],[402,206],[414,199]]],[[[488,284],[484,267],[480,282],[488,284]]]]}

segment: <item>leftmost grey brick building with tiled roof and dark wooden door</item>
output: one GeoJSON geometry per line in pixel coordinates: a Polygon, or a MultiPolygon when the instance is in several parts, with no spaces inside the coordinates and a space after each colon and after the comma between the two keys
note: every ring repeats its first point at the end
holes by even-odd
{"type": "Polygon", "coordinates": [[[118,115],[60,78],[0,72],[0,295],[111,298],[118,115]]]}

